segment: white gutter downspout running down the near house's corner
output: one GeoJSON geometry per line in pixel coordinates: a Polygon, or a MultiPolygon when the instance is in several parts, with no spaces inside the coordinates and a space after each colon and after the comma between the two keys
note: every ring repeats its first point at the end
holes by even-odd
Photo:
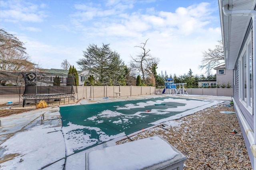
{"type": "MultiPolygon", "coordinates": [[[[228,5],[225,5],[222,7],[223,13],[226,16],[250,16],[252,17],[252,82],[253,82],[253,87],[252,87],[252,92],[253,92],[253,98],[252,98],[252,103],[253,103],[253,132],[254,132],[254,140],[253,143],[251,143],[251,149],[252,149],[252,154],[254,156],[254,170],[256,170],[256,11],[255,10],[228,10],[228,5]],[[253,59],[254,58],[254,59],[253,59]]],[[[246,131],[246,135],[247,131],[246,131]]]]}

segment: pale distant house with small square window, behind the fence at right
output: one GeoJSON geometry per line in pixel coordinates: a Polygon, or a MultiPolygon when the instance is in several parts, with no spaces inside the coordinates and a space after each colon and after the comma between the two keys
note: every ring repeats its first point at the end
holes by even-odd
{"type": "Polygon", "coordinates": [[[222,84],[229,84],[231,88],[233,87],[233,69],[226,69],[225,64],[217,66],[214,68],[216,70],[216,82],[220,86],[222,84]]]}

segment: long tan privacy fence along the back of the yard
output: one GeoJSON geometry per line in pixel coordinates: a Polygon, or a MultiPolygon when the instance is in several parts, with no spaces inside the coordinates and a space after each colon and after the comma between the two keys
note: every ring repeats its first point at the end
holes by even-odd
{"type": "MultiPolygon", "coordinates": [[[[54,87],[54,86],[50,86],[54,87]]],[[[76,91],[76,89],[74,88],[76,91]]],[[[118,96],[136,96],[162,93],[163,89],[151,86],[77,86],[76,99],[105,98],[118,96]],[[116,92],[116,93],[115,93],[116,92]]],[[[186,88],[190,95],[233,96],[233,88],[186,88]]],[[[8,101],[22,103],[24,88],[0,86],[0,104],[8,101]]]]}

